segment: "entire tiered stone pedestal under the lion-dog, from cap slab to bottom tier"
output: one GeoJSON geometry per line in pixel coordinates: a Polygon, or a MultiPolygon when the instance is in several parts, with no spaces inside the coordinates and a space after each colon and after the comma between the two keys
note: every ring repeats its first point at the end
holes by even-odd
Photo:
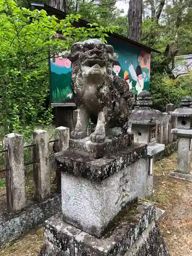
{"type": "Polygon", "coordinates": [[[169,256],[154,205],[138,201],[152,196],[154,150],[135,143],[102,158],[54,154],[62,213],[46,221],[40,255],[169,256]]]}

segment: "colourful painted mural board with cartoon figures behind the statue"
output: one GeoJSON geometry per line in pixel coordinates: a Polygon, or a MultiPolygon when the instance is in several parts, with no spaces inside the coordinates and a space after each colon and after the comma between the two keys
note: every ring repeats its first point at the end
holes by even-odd
{"type": "MultiPolygon", "coordinates": [[[[57,34],[56,37],[62,38],[57,34]]],[[[118,58],[113,62],[113,75],[118,75],[129,83],[134,94],[150,88],[150,53],[131,45],[108,39],[118,58]]],[[[59,54],[60,56],[61,54],[59,54]]],[[[71,90],[71,61],[64,57],[50,59],[50,92],[52,103],[73,103],[71,90]]]]}

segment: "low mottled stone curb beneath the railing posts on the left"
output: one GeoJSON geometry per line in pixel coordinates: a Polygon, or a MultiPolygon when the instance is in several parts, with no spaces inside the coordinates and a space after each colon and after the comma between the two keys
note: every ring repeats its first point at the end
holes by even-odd
{"type": "Polygon", "coordinates": [[[0,248],[11,244],[24,232],[35,228],[61,211],[61,196],[53,195],[43,203],[28,202],[28,207],[18,214],[0,212],[0,248]]]}

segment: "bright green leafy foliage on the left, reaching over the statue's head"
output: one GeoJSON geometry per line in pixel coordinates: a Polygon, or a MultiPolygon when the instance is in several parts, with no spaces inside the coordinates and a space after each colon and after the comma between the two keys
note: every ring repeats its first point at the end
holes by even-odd
{"type": "Polygon", "coordinates": [[[63,20],[45,10],[19,8],[12,0],[0,0],[0,134],[10,132],[31,138],[35,126],[52,121],[49,97],[48,59],[69,50],[71,45],[89,37],[105,41],[108,27],[74,28],[80,15],[63,20]],[[66,40],[54,38],[60,31],[66,40]]]}

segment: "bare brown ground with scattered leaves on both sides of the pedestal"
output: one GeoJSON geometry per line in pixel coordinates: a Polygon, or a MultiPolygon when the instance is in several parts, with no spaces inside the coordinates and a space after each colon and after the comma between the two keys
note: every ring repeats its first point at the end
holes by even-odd
{"type": "MultiPolygon", "coordinates": [[[[154,201],[165,210],[159,225],[171,256],[192,256],[192,183],[170,179],[167,174],[175,167],[175,154],[155,163],[154,201]]],[[[5,188],[0,187],[0,198],[4,195],[5,188]]],[[[0,250],[0,254],[37,256],[43,241],[40,226],[12,246],[0,250]]]]}

